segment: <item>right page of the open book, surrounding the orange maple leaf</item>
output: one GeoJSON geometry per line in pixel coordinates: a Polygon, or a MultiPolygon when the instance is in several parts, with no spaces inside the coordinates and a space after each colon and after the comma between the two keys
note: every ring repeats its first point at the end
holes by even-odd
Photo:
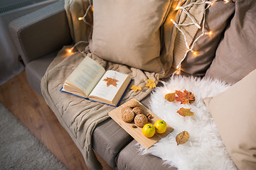
{"type": "Polygon", "coordinates": [[[95,89],[93,89],[92,93],[90,96],[97,96],[100,98],[103,98],[107,101],[112,101],[114,99],[114,96],[117,94],[119,91],[120,87],[124,83],[124,81],[127,79],[128,75],[127,74],[122,74],[119,72],[115,72],[112,70],[108,70],[100,79],[98,82],[97,86],[95,86],[95,89]],[[112,79],[117,79],[118,81],[117,86],[107,86],[107,82],[103,81],[104,79],[107,79],[107,77],[112,78],[112,79]]]}

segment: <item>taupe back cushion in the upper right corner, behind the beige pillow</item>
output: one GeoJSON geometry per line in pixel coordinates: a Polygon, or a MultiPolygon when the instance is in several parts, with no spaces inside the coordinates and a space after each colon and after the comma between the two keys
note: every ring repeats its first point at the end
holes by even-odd
{"type": "Polygon", "coordinates": [[[235,83],[256,68],[256,1],[235,1],[235,16],[225,30],[206,76],[235,83]]]}

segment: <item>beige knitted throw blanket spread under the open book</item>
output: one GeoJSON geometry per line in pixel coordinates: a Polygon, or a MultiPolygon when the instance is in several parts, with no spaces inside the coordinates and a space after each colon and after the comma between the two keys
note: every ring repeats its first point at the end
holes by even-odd
{"type": "MultiPolygon", "coordinates": [[[[96,60],[107,70],[112,69],[129,74],[129,77],[133,79],[132,84],[144,86],[146,79],[154,79],[157,84],[159,77],[158,74],[142,72],[139,69],[106,62],[87,52],[76,52],[73,55],[67,56],[65,48],[58,53],[58,56],[48,67],[45,76],[41,80],[41,91],[46,103],[80,149],[88,168],[101,169],[100,162],[97,161],[92,151],[92,132],[97,124],[109,118],[107,113],[112,111],[114,107],[60,92],[65,79],[67,79],[86,55],[92,57],[93,60],[96,60]]],[[[128,89],[122,99],[122,103],[131,98],[137,98],[140,101],[150,92],[151,90],[146,87],[140,92],[128,89]]]]}

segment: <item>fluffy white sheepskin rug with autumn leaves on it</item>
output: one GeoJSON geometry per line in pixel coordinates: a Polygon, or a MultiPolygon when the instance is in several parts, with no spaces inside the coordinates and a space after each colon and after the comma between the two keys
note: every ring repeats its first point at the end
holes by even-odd
{"type": "Polygon", "coordinates": [[[140,154],[153,154],[178,170],[237,169],[219,135],[203,98],[213,97],[228,89],[217,80],[175,76],[151,94],[149,109],[174,128],[174,131],[148,150],[139,145],[140,154]],[[192,104],[166,101],[164,96],[176,90],[191,91],[196,101],[192,104]],[[191,108],[193,116],[176,113],[180,108],[191,108]],[[183,145],[176,143],[176,135],[186,130],[190,138],[183,145]]]}

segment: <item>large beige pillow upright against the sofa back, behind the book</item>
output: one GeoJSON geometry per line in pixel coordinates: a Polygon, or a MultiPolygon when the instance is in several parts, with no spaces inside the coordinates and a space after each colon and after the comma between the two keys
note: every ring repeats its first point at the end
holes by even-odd
{"type": "Polygon", "coordinates": [[[90,51],[110,62],[164,72],[159,28],[170,6],[163,0],[94,0],[90,51]]]}

